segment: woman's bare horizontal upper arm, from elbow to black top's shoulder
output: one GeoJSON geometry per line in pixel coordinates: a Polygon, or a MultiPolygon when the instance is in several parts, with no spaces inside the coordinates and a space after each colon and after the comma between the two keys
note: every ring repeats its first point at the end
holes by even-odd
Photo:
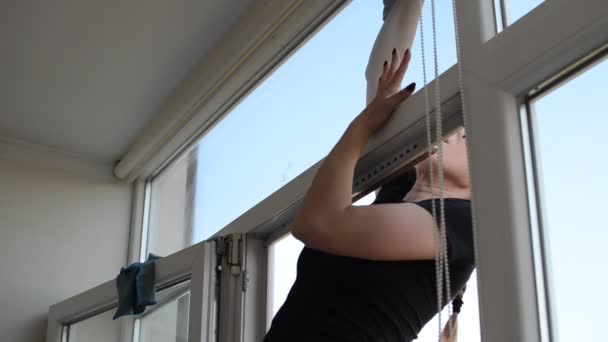
{"type": "Polygon", "coordinates": [[[412,203],[351,206],[313,227],[294,229],[307,246],[370,260],[425,260],[435,255],[433,217],[412,203]]]}

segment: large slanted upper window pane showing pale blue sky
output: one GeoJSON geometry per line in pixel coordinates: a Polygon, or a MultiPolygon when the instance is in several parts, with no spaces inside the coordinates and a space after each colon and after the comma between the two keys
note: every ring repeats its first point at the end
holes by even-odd
{"type": "MultiPolygon", "coordinates": [[[[428,3],[428,2],[427,2],[428,3]]],[[[432,70],[430,4],[428,69],[432,70]]],[[[438,8],[440,71],[456,61],[450,6],[438,8]]],[[[365,106],[380,1],[354,1],[198,144],[195,241],[205,239],[323,158],[365,106]]],[[[422,84],[419,42],[404,82],[422,84]]]]}

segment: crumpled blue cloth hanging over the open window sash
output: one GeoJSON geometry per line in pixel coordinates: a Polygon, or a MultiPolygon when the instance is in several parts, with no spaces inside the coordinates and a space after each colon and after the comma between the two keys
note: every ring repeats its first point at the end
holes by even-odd
{"type": "Polygon", "coordinates": [[[122,267],[116,277],[118,309],[114,319],[124,315],[139,315],[146,306],[156,304],[154,261],[160,257],[150,253],[145,262],[122,267]]]}

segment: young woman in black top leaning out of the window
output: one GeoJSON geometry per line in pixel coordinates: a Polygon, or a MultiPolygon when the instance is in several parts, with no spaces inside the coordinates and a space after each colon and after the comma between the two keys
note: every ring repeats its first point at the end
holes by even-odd
{"type": "MultiPolygon", "coordinates": [[[[372,53],[370,60],[374,58],[372,53]]],[[[431,188],[429,166],[437,170],[437,158],[383,187],[374,205],[352,205],[353,173],[363,148],[414,91],[413,83],[400,89],[410,58],[409,50],[395,48],[380,64],[375,96],[327,156],[304,197],[292,224],[293,235],[305,244],[297,278],[265,342],[411,341],[436,314],[438,224],[431,198],[439,191],[431,188]]],[[[443,148],[455,294],[474,268],[464,132],[444,140],[443,148]]]]}

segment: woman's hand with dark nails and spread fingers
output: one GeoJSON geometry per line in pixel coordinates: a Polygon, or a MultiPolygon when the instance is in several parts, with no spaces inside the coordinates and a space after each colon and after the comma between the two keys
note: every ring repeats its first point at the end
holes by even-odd
{"type": "Polygon", "coordinates": [[[416,83],[410,83],[404,89],[400,89],[412,56],[408,49],[399,61],[398,54],[397,50],[393,49],[390,63],[384,62],[382,75],[378,80],[376,97],[353,122],[363,125],[370,135],[384,126],[393,115],[395,108],[410,97],[416,88],[416,83]]]}

